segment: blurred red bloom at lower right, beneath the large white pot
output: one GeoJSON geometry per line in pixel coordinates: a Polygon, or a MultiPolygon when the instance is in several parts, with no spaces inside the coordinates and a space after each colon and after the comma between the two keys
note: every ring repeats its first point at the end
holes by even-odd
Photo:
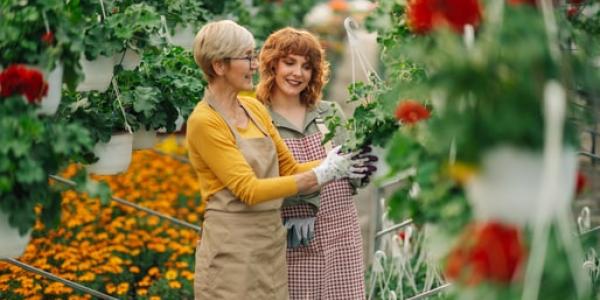
{"type": "Polygon", "coordinates": [[[526,252],[518,228],[494,222],[472,224],[448,256],[445,273],[467,285],[484,280],[509,283],[526,252]]]}

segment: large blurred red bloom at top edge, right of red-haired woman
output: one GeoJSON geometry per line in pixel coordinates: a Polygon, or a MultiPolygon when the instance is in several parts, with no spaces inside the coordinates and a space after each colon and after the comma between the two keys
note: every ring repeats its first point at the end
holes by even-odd
{"type": "Polygon", "coordinates": [[[442,25],[462,33],[467,24],[477,27],[482,15],[478,0],[409,0],[406,10],[410,29],[420,34],[442,25]]]}

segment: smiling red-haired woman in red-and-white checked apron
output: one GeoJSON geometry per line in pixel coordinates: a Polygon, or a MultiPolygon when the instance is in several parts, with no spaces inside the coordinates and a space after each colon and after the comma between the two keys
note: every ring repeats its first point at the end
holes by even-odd
{"type": "MultiPolygon", "coordinates": [[[[307,31],[281,29],[267,38],[260,52],[257,96],[268,106],[279,133],[301,162],[326,156],[332,145],[321,145],[327,133],[323,120],[344,118],[336,103],[320,101],[327,74],[324,51],[307,31]]],[[[342,132],[333,144],[344,139],[342,132]]],[[[352,199],[358,183],[336,180],[324,186],[320,195],[285,199],[291,299],[364,298],[362,239],[352,199]]]]}

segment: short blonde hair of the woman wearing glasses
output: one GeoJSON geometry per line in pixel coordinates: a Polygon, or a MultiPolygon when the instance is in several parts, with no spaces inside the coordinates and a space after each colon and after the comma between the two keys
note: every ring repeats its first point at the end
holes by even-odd
{"type": "Polygon", "coordinates": [[[194,39],[194,60],[210,82],[217,76],[212,67],[214,61],[242,56],[246,49],[254,49],[255,45],[252,33],[236,22],[209,22],[194,39]]]}

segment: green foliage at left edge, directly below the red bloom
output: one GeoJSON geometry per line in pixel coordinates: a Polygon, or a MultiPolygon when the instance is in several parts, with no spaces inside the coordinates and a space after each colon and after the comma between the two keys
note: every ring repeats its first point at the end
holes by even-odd
{"type": "MultiPolygon", "coordinates": [[[[0,99],[0,132],[0,209],[21,234],[33,227],[39,205],[42,222],[55,226],[61,196],[48,176],[91,151],[89,131],[78,123],[38,117],[35,106],[19,95],[0,99]]],[[[85,176],[78,183],[97,189],[85,176]]]]}

